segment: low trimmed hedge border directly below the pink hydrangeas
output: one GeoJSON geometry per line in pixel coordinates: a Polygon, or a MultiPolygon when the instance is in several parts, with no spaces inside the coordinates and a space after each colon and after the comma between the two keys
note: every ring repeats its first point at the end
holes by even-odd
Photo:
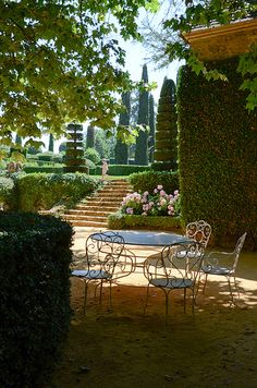
{"type": "Polygon", "coordinates": [[[180,217],[164,216],[134,216],[122,215],[120,213],[108,217],[109,229],[151,229],[151,230],[173,230],[182,232],[180,217]]]}

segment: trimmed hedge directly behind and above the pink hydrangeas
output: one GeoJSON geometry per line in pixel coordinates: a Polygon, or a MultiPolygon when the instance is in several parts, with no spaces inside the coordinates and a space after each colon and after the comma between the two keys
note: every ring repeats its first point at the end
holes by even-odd
{"type": "Polygon", "coordinates": [[[161,184],[168,194],[172,194],[179,189],[179,174],[176,171],[145,171],[131,174],[130,182],[135,192],[152,193],[157,185],[161,184]]]}

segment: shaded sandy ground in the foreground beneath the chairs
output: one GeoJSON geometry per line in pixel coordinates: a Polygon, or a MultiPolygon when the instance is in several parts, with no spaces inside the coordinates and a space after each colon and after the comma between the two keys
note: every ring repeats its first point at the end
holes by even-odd
{"type": "MultiPolygon", "coordinates": [[[[87,233],[76,234],[74,251],[83,251],[87,233]]],[[[152,253],[143,251],[140,255],[152,253]]],[[[150,289],[144,315],[147,282],[142,268],[113,287],[112,310],[109,288],[99,304],[90,286],[85,315],[83,281],[72,278],[74,316],[54,387],[257,387],[256,253],[242,253],[236,281],[240,296],[234,290],[232,304],[225,278],[209,276],[194,316],[189,292],[185,314],[183,293],[172,292],[166,326],[161,290],[150,289]]]]}

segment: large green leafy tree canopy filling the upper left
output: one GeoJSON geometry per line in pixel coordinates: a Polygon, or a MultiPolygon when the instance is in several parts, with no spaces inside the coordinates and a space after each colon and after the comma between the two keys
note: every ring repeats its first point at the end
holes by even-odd
{"type": "Polygon", "coordinates": [[[119,37],[137,39],[156,0],[0,0],[0,140],[60,136],[69,122],[111,128],[128,85],[119,37]]]}

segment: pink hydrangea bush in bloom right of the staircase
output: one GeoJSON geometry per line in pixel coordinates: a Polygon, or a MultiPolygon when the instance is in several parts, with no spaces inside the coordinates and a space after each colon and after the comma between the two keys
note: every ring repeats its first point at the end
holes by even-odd
{"type": "Polygon", "coordinates": [[[180,193],[167,194],[161,184],[154,190],[152,194],[132,193],[122,201],[122,214],[142,216],[179,216],[180,193]]]}

